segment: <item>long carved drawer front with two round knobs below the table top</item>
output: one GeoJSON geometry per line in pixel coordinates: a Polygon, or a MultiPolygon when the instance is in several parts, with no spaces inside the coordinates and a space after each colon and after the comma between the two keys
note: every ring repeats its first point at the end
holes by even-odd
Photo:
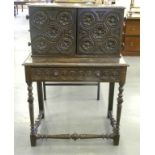
{"type": "Polygon", "coordinates": [[[31,68],[32,81],[120,81],[120,68],[31,68]]]}

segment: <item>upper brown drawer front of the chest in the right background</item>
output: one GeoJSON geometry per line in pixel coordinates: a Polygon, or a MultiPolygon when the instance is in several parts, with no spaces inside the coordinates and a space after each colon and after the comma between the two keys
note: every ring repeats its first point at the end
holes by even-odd
{"type": "Polygon", "coordinates": [[[140,21],[139,20],[127,20],[126,23],[126,35],[140,35],[140,21]]]}

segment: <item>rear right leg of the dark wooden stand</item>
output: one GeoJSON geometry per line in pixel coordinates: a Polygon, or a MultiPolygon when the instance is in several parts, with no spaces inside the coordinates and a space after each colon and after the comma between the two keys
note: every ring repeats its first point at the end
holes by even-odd
{"type": "Polygon", "coordinates": [[[108,99],[109,104],[108,104],[108,113],[107,113],[108,118],[109,118],[109,113],[112,112],[113,110],[114,87],[115,87],[115,83],[110,82],[109,83],[109,99],[108,99]]]}

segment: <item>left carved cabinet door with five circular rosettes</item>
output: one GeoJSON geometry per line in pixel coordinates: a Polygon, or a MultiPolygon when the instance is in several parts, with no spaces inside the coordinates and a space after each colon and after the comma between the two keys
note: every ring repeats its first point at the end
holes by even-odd
{"type": "Polygon", "coordinates": [[[29,7],[32,55],[76,53],[76,9],[29,7]]]}

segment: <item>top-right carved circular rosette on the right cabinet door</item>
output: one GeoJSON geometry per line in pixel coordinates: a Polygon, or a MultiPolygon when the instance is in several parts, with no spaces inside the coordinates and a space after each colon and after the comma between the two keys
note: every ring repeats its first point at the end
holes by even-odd
{"type": "Polygon", "coordinates": [[[106,17],[106,23],[111,27],[117,27],[119,25],[119,15],[117,13],[109,13],[106,17]]]}

